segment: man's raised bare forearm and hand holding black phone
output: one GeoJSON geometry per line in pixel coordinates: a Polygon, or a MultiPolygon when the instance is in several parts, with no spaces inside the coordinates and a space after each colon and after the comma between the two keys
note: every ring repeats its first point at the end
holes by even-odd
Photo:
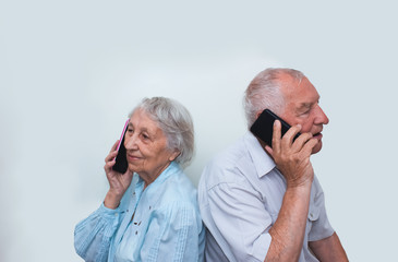
{"type": "Polygon", "coordinates": [[[310,162],[317,140],[310,133],[293,136],[301,127],[292,127],[280,139],[280,122],[274,123],[273,148],[266,146],[284,177],[287,189],[278,218],[269,229],[272,242],[265,258],[269,261],[298,261],[303,247],[314,170],[310,162]]]}

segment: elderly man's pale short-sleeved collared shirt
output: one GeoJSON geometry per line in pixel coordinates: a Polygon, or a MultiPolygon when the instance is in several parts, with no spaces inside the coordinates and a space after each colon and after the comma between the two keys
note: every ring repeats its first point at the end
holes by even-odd
{"type": "MultiPolygon", "coordinates": [[[[207,262],[264,261],[286,192],[285,177],[250,132],[215,157],[198,184],[202,219],[207,227],[207,262]]],[[[307,241],[331,236],[324,193],[316,177],[300,262],[318,261],[307,241]]]]}

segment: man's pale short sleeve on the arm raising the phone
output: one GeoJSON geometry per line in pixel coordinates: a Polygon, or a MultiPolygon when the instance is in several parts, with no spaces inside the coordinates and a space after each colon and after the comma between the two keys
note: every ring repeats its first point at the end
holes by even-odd
{"type": "MultiPolygon", "coordinates": [[[[248,181],[224,182],[208,191],[208,213],[215,230],[236,261],[264,261],[273,219],[262,196],[248,181]]],[[[218,239],[217,239],[218,241],[218,239]]]]}

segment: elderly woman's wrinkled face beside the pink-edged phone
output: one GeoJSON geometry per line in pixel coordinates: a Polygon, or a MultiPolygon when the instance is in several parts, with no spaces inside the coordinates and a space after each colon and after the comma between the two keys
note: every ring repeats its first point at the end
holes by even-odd
{"type": "Polygon", "coordinates": [[[146,183],[154,181],[179,155],[167,148],[167,138],[149,116],[137,109],[130,118],[124,136],[129,169],[146,183]]]}

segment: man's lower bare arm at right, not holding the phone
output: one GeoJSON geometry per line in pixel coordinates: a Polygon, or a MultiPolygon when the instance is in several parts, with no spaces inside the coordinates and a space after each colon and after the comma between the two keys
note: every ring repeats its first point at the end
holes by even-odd
{"type": "Polygon", "coordinates": [[[315,257],[322,262],[348,261],[346,251],[336,233],[328,238],[309,242],[309,246],[315,257]]]}

